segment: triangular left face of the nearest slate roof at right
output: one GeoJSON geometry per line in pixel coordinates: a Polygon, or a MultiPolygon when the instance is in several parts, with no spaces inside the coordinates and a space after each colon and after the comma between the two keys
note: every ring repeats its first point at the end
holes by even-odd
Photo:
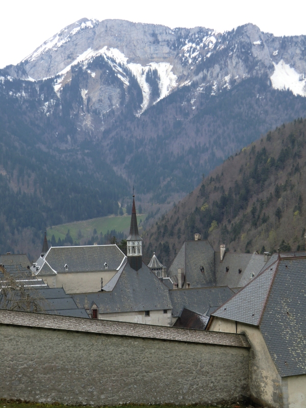
{"type": "Polygon", "coordinates": [[[258,325],[274,276],[275,262],[218,308],[213,316],[258,325]]]}

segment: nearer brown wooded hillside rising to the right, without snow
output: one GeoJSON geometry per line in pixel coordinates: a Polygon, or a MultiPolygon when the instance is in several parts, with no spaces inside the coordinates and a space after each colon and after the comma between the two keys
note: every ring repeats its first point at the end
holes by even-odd
{"type": "Polygon", "coordinates": [[[201,234],[217,250],[305,250],[306,119],[276,127],[243,147],[147,230],[146,259],[169,264],[201,234]]]}

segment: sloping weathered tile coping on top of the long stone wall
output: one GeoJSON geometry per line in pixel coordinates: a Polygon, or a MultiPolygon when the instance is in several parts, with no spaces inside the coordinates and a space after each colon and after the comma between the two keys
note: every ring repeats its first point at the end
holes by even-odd
{"type": "Polygon", "coordinates": [[[131,336],[234,347],[250,347],[246,337],[239,334],[107,320],[80,319],[66,316],[50,316],[39,313],[13,312],[8,310],[0,310],[0,324],[72,330],[113,336],[131,336]]]}

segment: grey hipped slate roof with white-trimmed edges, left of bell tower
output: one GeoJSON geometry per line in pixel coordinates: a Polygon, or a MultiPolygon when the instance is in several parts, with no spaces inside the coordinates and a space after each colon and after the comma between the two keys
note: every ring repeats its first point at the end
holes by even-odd
{"type": "Polygon", "coordinates": [[[124,259],[125,255],[117,245],[51,247],[44,257],[38,258],[37,265],[31,269],[38,276],[63,272],[118,270],[124,259]],[[65,265],[68,265],[68,270],[65,265]]]}

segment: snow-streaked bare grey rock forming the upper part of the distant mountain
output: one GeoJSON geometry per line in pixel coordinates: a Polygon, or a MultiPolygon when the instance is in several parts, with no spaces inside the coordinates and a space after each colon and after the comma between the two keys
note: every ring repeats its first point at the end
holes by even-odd
{"type": "Polygon", "coordinates": [[[13,78],[54,78],[60,96],[71,80],[71,67],[81,66],[88,89],[83,99],[104,114],[124,104],[126,88],[133,75],[142,92],[137,114],[144,112],[170,92],[197,83],[193,93],[206,89],[216,94],[248,78],[267,78],[275,89],[291,89],[306,95],[306,37],[274,37],[256,25],[246,24],[223,34],[197,27],[171,30],[162,25],[125,20],[83,18],[45,41],[16,67],[8,67],[13,78]],[[107,73],[121,82],[106,87],[100,71],[88,66],[102,57],[107,73]],[[112,73],[110,73],[112,71],[112,73]],[[89,74],[89,75],[88,75],[89,74]],[[125,92],[120,91],[120,87],[125,92]]]}

